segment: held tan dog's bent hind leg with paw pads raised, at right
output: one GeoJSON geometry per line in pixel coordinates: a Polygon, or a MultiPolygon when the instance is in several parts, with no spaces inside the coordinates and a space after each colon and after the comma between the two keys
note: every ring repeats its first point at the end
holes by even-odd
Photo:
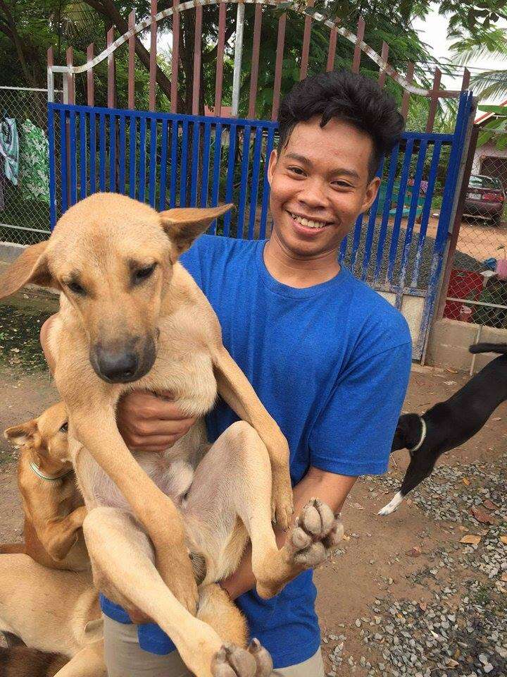
{"type": "Polygon", "coordinates": [[[192,549],[206,557],[206,583],[235,570],[248,534],[257,592],[272,597],[301,571],[322,563],[327,549],[342,536],[342,525],[330,508],[311,501],[279,549],[270,499],[271,468],[265,444],[248,423],[236,422],[196,468],[184,511],[192,549]],[[238,518],[246,532],[242,542],[238,518]]]}

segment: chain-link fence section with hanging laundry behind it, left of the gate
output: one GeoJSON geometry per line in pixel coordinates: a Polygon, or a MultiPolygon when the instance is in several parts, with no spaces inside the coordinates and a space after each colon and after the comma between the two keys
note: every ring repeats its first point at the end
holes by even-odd
{"type": "Polygon", "coordinates": [[[47,93],[0,87],[0,241],[28,245],[49,230],[47,93]]]}

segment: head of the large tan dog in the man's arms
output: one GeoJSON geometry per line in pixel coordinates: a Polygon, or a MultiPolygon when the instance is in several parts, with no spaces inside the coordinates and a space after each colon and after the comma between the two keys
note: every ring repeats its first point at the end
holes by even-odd
{"type": "Polygon", "coordinates": [[[0,298],[27,283],[62,291],[82,319],[96,374],[109,383],[137,381],[156,358],[173,264],[231,207],[158,213],[125,195],[96,193],[15,260],[0,277],[0,298]]]}

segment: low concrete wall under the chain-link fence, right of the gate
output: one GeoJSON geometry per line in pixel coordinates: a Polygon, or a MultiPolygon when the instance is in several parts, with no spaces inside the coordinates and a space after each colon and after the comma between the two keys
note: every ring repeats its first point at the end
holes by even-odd
{"type": "MultiPolygon", "coordinates": [[[[459,371],[470,371],[473,355],[468,346],[475,343],[478,324],[458,322],[456,319],[439,319],[434,322],[428,341],[426,364],[433,367],[452,367],[459,371]]],[[[507,343],[507,329],[482,327],[481,343],[507,343]]],[[[475,356],[474,372],[478,372],[496,355],[485,353],[475,356]]]]}

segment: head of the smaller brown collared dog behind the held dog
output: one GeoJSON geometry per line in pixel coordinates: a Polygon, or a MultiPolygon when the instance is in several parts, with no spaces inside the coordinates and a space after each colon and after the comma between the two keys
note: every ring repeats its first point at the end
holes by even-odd
{"type": "Polygon", "coordinates": [[[32,452],[37,467],[47,475],[71,468],[68,458],[67,411],[63,402],[46,409],[38,418],[4,431],[11,444],[32,452]]]}

